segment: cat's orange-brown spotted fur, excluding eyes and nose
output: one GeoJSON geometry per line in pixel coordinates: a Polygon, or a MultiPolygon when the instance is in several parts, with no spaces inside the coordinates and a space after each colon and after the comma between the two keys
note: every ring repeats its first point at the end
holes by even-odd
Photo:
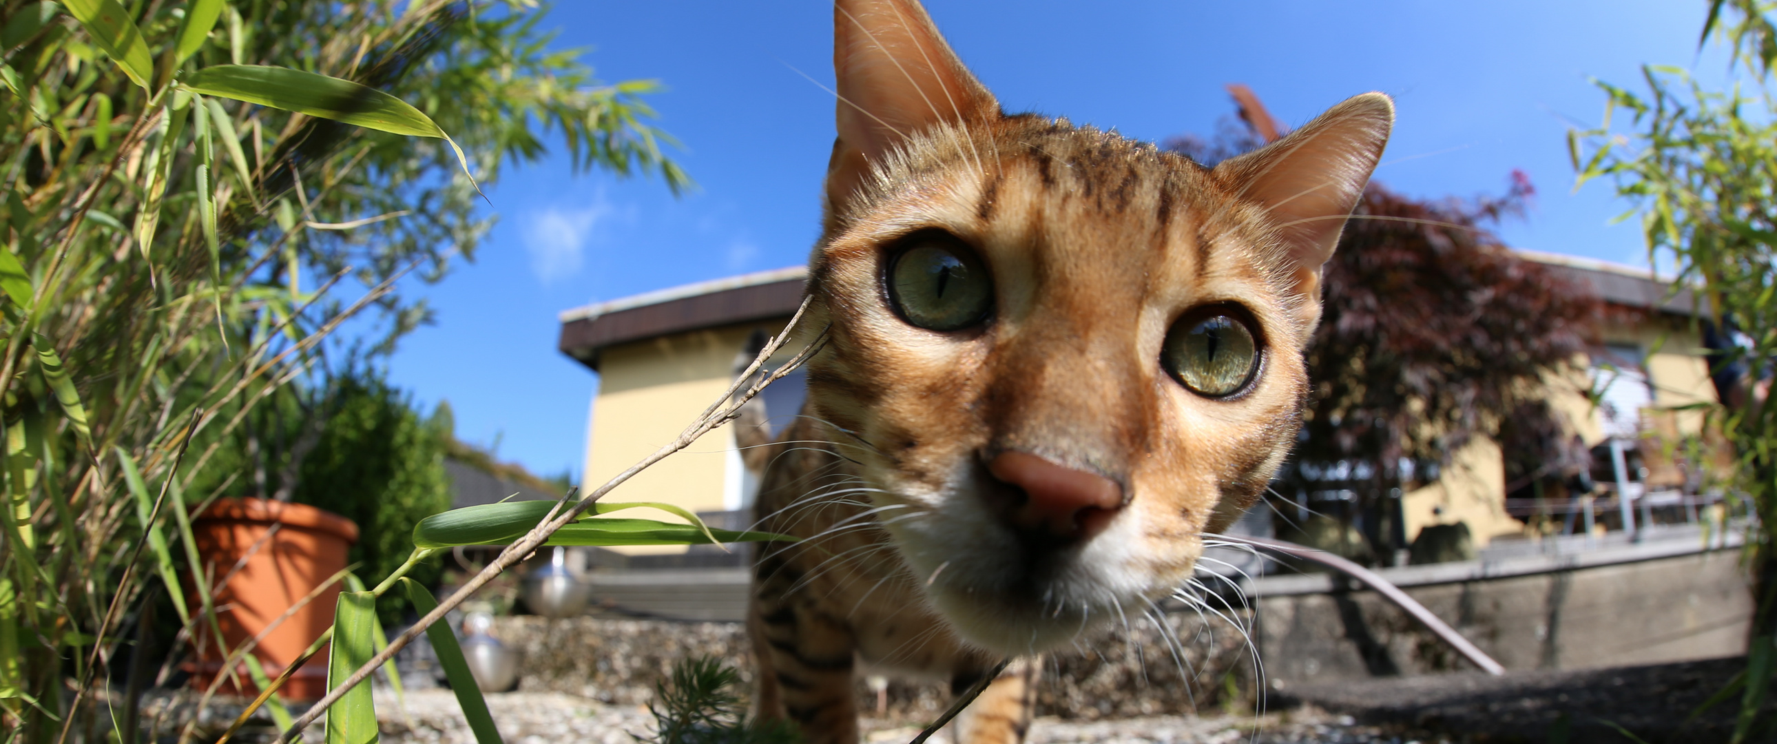
{"type": "MultiPolygon", "coordinates": [[[[750,453],[755,703],[810,744],[857,740],[860,666],[979,680],[958,723],[1016,742],[1038,653],[1182,586],[1201,536],[1239,517],[1288,453],[1308,391],[1320,265],[1368,179],[1390,101],[1345,101],[1205,169],[1112,131],[1006,115],[913,0],[835,5],[839,140],[810,257],[803,416],[750,453]],[[897,240],[944,231],[986,263],[995,302],[933,332],[888,305],[897,240]],[[1212,304],[1258,328],[1255,382],[1192,394],[1160,368],[1167,327],[1212,304]],[[993,456],[1114,481],[1123,506],[1073,545],[1022,542],[990,504],[993,456]]],[[[743,442],[755,433],[741,431],[743,442]]]]}

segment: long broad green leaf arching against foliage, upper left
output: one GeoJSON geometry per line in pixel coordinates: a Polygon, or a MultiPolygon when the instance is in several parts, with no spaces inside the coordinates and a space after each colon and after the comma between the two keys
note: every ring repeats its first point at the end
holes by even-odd
{"type": "MultiPolygon", "coordinates": [[[[407,101],[368,85],[327,75],[263,64],[219,64],[199,69],[181,83],[192,92],[233,98],[261,107],[357,124],[366,130],[409,137],[437,137],[457,153],[457,165],[474,183],[469,158],[428,115],[407,101]]],[[[480,186],[476,186],[480,190],[480,186]]]]}

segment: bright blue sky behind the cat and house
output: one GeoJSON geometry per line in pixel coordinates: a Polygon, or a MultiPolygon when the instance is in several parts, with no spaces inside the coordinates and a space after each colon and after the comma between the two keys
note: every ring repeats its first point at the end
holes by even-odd
{"type": "MultiPolygon", "coordinates": [[[[1692,66],[1704,2],[986,2],[929,0],[963,62],[1013,112],[1159,140],[1212,135],[1247,83],[1301,124],[1340,99],[1395,96],[1375,179],[1416,197],[1539,188],[1509,245],[1646,263],[1637,226],[1608,226],[1608,185],[1573,194],[1564,135],[1644,62],[1692,66]]],[[[592,48],[606,82],[657,78],[650,103],[698,188],[574,178],[563,160],[505,174],[476,263],[419,288],[437,323],[405,339],[394,384],[450,400],[458,437],[537,472],[581,469],[597,378],[556,353],[556,314],[739,272],[801,263],[833,139],[832,11],[796,2],[562,2],[544,23],[592,48]],[[810,80],[812,78],[812,80],[810,80]],[[816,85],[819,82],[819,85],[816,85]]],[[[1720,71],[1720,55],[1704,55],[1720,71]]],[[[474,147],[464,142],[464,147],[474,147]]]]}

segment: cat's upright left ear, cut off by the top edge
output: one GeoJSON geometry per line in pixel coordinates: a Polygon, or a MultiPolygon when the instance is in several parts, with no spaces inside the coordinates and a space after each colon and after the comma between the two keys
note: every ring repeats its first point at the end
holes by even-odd
{"type": "Polygon", "coordinates": [[[938,123],[970,126],[999,101],[963,67],[917,0],[833,2],[839,140],[826,176],[837,208],[873,162],[938,123]]]}

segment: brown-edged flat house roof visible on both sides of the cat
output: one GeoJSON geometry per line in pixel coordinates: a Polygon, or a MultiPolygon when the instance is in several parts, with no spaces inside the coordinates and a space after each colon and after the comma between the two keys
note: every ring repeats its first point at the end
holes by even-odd
{"type": "MultiPolygon", "coordinates": [[[[1646,268],[1578,256],[1514,250],[1548,266],[1555,275],[1590,288],[1617,305],[1672,314],[1704,313],[1708,305],[1690,289],[1670,293],[1672,277],[1646,268]]],[[[562,353],[599,369],[599,353],[610,346],[721,325],[789,318],[801,305],[805,266],[743,273],[668,289],[656,289],[562,313],[562,353]]]]}

